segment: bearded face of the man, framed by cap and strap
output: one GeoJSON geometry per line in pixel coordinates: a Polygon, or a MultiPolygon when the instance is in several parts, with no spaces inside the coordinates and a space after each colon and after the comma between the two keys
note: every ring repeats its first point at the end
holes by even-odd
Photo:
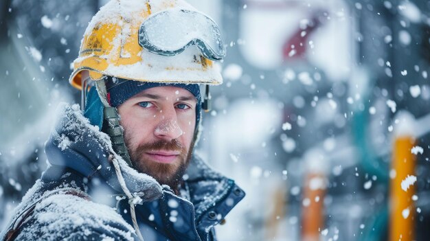
{"type": "Polygon", "coordinates": [[[154,87],[126,100],[118,111],[135,168],[176,188],[194,147],[194,95],[179,87],[154,87]]]}

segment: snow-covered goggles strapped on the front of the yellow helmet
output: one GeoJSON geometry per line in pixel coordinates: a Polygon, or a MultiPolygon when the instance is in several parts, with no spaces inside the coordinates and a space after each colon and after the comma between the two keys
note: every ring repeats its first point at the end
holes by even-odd
{"type": "Polygon", "coordinates": [[[181,54],[188,46],[196,45],[205,58],[225,57],[218,25],[190,10],[166,10],[150,16],[139,28],[139,45],[163,56],[181,54]]]}

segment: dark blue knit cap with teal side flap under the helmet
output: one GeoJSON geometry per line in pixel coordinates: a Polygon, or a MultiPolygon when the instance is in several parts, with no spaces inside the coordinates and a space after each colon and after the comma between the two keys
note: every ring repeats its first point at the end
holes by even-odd
{"type": "MultiPolygon", "coordinates": [[[[99,80],[103,81],[103,80],[99,80]]],[[[190,91],[196,97],[196,128],[198,130],[200,118],[201,118],[201,93],[199,84],[170,84],[170,83],[159,83],[159,82],[140,82],[134,80],[125,80],[122,78],[115,78],[106,76],[104,78],[106,82],[106,91],[108,102],[112,107],[117,108],[122,103],[126,102],[130,97],[137,93],[150,89],[153,87],[180,87],[187,91],[190,91]]],[[[87,95],[87,103],[85,105],[84,116],[87,117],[90,123],[94,126],[98,126],[102,130],[103,124],[103,104],[97,93],[97,89],[92,87],[87,95]]]]}

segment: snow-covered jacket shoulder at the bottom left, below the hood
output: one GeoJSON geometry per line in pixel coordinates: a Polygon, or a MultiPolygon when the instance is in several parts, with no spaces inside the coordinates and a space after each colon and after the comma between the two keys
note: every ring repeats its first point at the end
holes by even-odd
{"type": "Polygon", "coordinates": [[[134,240],[134,229],[115,210],[73,194],[36,204],[16,240],[134,240]]]}

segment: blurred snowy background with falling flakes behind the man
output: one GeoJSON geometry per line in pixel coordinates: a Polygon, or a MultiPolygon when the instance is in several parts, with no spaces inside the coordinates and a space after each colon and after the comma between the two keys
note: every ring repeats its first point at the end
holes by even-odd
{"type": "MultiPolygon", "coordinates": [[[[227,45],[197,151],[247,192],[219,240],[428,240],[430,1],[189,2],[227,45]]],[[[1,229],[105,3],[0,2],[1,229]]]]}

